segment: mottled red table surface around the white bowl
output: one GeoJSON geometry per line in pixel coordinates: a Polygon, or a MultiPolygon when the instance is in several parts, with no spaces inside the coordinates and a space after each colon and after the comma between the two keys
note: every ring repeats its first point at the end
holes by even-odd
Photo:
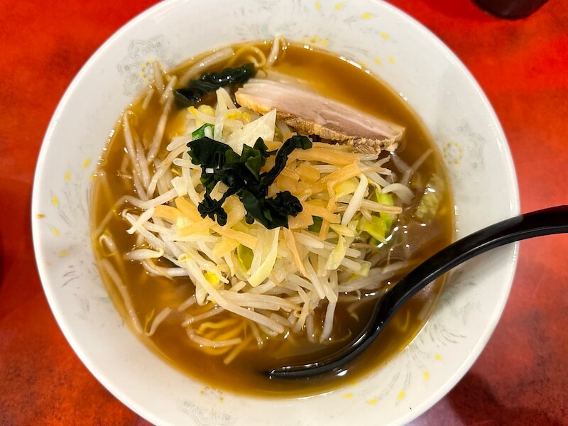
{"type": "MultiPolygon", "coordinates": [[[[35,269],[30,198],[43,134],[67,85],[153,3],[0,0],[0,425],[148,424],[91,376],[55,323],[35,269]]],[[[528,19],[501,21],[469,0],[392,3],[481,84],[513,153],[523,211],[568,203],[568,4],[550,0],[528,19]]],[[[413,425],[568,425],[567,253],[563,235],[521,244],[486,349],[413,425]]]]}

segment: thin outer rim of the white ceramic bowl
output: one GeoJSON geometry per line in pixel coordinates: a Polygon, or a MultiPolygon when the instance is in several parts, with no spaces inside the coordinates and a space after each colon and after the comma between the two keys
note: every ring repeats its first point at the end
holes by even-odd
{"type": "MultiPolygon", "coordinates": [[[[40,153],[38,155],[38,159],[35,165],[35,173],[33,175],[33,190],[31,195],[31,213],[32,213],[31,227],[32,227],[35,263],[36,267],[38,268],[38,273],[40,276],[45,296],[50,306],[50,310],[53,312],[53,316],[55,317],[58,326],[62,330],[65,339],[70,344],[73,351],[75,351],[75,354],[77,354],[77,356],[82,361],[84,366],[87,367],[89,372],[92,373],[92,375],[95,378],[97,378],[97,381],[99,381],[99,383],[101,383],[105,388],[107,388],[107,390],[112,395],[114,395],[115,398],[120,400],[121,403],[124,403],[124,405],[126,405],[128,408],[133,410],[138,415],[141,415],[141,417],[157,425],[164,424],[165,420],[161,417],[154,415],[154,413],[151,410],[147,410],[144,405],[141,405],[141,403],[139,403],[137,400],[131,398],[131,396],[129,396],[128,393],[124,392],[121,388],[116,386],[114,384],[114,381],[112,381],[111,378],[107,377],[104,373],[102,373],[99,370],[99,368],[97,368],[97,364],[94,364],[92,362],[89,353],[82,348],[80,342],[77,342],[75,339],[73,339],[72,331],[67,324],[67,319],[64,313],[58,309],[57,297],[50,290],[49,286],[45,284],[50,281],[50,278],[47,271],[47,267],[45,266],[45,262],[43,262],[44,253],[40,248],[40,244],[38,244],[38,241],[40,239],[39,224],[37,221],[34,220],[34,218],[40,212],[39,208],[41,201],[39,196],[40,188],[38,182],[40,182],[42,176],[45,175],[45,158],[48,155],[48,151],[50,151],[50,146],[54,141],[53,133],[56,126],[58,125],[58,121],[62,116],[62,113],[67,108],[67,104],[69,103],[73,92],[75,92],[76,87],[89,73],[94,63],[97,62],[99,58],[104,56],[104,54],[111,47],[111,45],[114,45],[116,40],[122,38],[124,36],[124,33],[128,32],[130,28],[136,26],[140,21],[146,20],[149,16],[152,16],[156,13],[160,13],[165,9],[170,9],[173,6],[173,4],[183,3],[186,1],[187,0],[164,0],[160,1],[158,4],[150,6],[148,9],[144,11],[141,11],[141,13],[138,13],[136,16],[134,16],[129,21],[124,23],[123,26],[116,29],[116,31],[114,31],[114,33],[109,38],[107,38],[107,40],[105,40],[104,43],[102,43],[102,45],[99,46],[99,48],[97,48],[97,50],[89,57],[89,59],[84,63],[84,65],[82,65],[82,67],[77,72],[75,77],[73,77],[67,89],[65,89],[65,93],[62,95],[60,102],[58,103],[58,106],[56,107],[53,116],[50,119],[48,128],[45,131],[45,136],[43,137],[43,141],[40,147],[40,153]]],[[[510,215],[513,216],[515,214],[519,214],[520,197],[518,190],[518,179],[515,171],[515,165],[513,163],[513,157],[510,153],[510,147],[508,146],[506,135],[503,131],[500,121],[498,120],[496,112],[491,106],[491,102],[489,102],[486,94],[481,89],[479,83],[476,81],[474,76],[471,75],[471,72],[469,72],[469,70],[466,68],[463,62],[459,60],[457,55],[446,44],[444,44],[442,40],[440,40],[437,37],[437,35],[435,35],[435,33],[430,31],[430,29],[428,29],[422,23],[420,23],[415,18],[413,18],[413,16],[410,16],[408,13],[405,13],[401,9],[398,9],[396,6],[393,6],[392,4],[387,3],[386,1],[383,0],[371,0],[371,1],[373,3],[380,5],[381,7],[389,9],[391,13],[394,13],[396,16],[398,16],[398,18],[406,21],[408,25],[413,26],[416,31],[422,33],[422,35],[424,35],[424,37],[427,38],[430,43],[434,44],[436,48],[439,49],[450,62],[452,62],[454,67],[456,67],[459,70],[459,72],[462,75],[464,75],[464,77],[466,77],[468,82],[471,84],[471,87],[475,89],[479,101],[483,103],[483,106],[486,108],[488,114],[491,116],[493,124],[495,125],[494,130],[496,131],[498,137],[500,138],[500,140],[496,142],[499,145],[499,150],[501,151],[502,154],[502,160],[504,161],[504,163],[506,163],[506,166],[508,168],[508,174],[510,175],[511,185],[510,187],[508,187],[508,192],[510,194],[510,202],[508,209],[510,215]],[[503,143],[501,143],[501,141],[503,141],[503,143]]],[[[454,388],[454,386],[461,380],[461,378],[463,378],[466,372],[469,371],[469,368],[471,368],[471,366],[474,364],[476,359],[479,357],[481,351],[483,351],[484,347],[488,343],[488,340],[493,334],[493,331],[498,323],[498,320],[501,318],[501,315],[503,314],[503,310],[506,306],[508,295],[510,293],[510,288],[513,284],[515,269],[518,263],[518,253],[519,253],[520,244],[517,242],[515,244],[512,244],[511,246],[513,246],[513,249],[510,255],[509,262],[506,264],[506,267],[509,269],[509,271],[507,274],[508,275],[507,283],[503,283],[503,290],[504,290],[503,297],[498,303],[498,309],[493,310],[491,318],[488,320],[484,332],[481,334],[481,337],[474,346],[474,349],[472,349],[469,352],[466,359],[464,359],[461,366],[454,371],[452,376],[449,376],[447,381],[444,383],[444,386],[440,386],[439,388],[437,388],[433,393],[429,395],[428,398],[422,400],[422,403],[420,403],[420,405],[416,405],[410,413],[403,415],[402,417],[400,417],[400,419],[393,422],[393,424],[398,425],[410,422],[414,420],[416,417],[425,413],[425,411],[430,409],[433,405],[438,403],[439,400],[441,400],[444,397],[444,395],[449,393],[449,391],[451,391],[452,388],[454,388]]],[[[251,395],[247,395],[247,397],[264,399],[262,397],[255,397],[251,395]]]]}

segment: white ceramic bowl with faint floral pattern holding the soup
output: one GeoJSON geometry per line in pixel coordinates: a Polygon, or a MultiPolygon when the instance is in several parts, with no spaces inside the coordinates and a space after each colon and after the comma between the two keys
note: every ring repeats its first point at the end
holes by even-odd
{"type": "Polygon", "coordinates": [[[364,63],[408,99],[435,137],[455,195],[457,235],[518,213],[501,126],[464,65],[432,33],[380,1],[170,0],[121,28],[73,80],[50,123],[33,187],[33,239],[51,309],[77,355],[111,393],[159,425],[398,425],[466,373],[498,321],[517,246],[454,271],[417,338],[353,386],[301,399],[222,393],[175,370],[125,327],[89,240],[89,187],[109,129],[149,60],[173,65],[241,40],[319,45],[364,63]],[[45,217],[42,217],[45,216],[45,217]]]}

